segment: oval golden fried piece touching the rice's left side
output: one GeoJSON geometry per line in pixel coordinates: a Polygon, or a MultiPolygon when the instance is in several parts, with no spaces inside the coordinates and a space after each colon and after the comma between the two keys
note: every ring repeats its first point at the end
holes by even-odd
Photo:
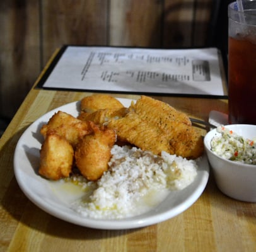
{"type": "Polygon", "coordinates": [[[90,181],[100,178],[108,169],[108,161],[111,157],[111,149],[116,141],[115,131],[112,129],[100,129],[91,123],[93,133],[84,135],[76,146],[76,166],[81,174],[90,181]]]}

